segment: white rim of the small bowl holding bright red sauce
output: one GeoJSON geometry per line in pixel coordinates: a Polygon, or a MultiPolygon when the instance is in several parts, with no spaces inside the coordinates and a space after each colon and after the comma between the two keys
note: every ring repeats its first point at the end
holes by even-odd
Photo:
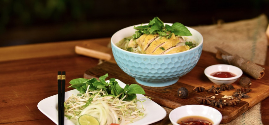
{"type": "MultiPolygon", "coordinates": [[[[215,72],[218,72],[218,70],[216,70],[215,72]]],[[[219,80],[219,81],[229,81],[229,80],[234,80],[234,79],[238,79],[239,77],[241,77],[242,74],[243,74],[243,71],[242,71],[240,68],[238,68],[238,67],[236,67],[236,66],[233,66],[233,65],[228,65],[228,64],[216,64],[216,65],[211,65],[211,66],[205,68],[205,70],[204,70],[204,74],[205,74],[208,78],[211,78],[211,79],[214,79],[214,80],[219,80]],[[206,71],[207,71],[209,68],[212,68],[212,67],[215,67],[215,66],[229,66],[229,67],[232,67],[232,68],[238,70],[238,71],[239,71],[239,74],[236,75],[235,77],[230,77],[230,78],[218,78],[218,77],[213,77],[213,76],[211,76],[210,74],[207,74],[206,71]]]]}

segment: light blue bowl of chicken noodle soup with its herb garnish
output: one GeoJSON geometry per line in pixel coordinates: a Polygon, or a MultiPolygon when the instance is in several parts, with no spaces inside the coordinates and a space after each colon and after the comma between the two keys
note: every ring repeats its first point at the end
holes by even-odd
{"type": "Polygon", "coordinates": [[[197,64],[202,35],[183,24],[164,23],[154,17],[149,23],[123,28],[111,37],[117,65],[137,83],[164,87],[176,83],[197,64]]]}

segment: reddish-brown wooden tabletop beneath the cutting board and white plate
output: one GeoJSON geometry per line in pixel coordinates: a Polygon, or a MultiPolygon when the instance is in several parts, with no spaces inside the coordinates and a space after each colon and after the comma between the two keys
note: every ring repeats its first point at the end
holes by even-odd
{"type": "MultiPolygon", "coordinates": [[[[105,45],[110,38],[84,40],[105,45]]],[[[57,71],[66,71],[67,81],[82,78],[99,60],[77,55],[74,47],[82,41],[0,47],[0,124],[54,124],[37,104],[57,94],[57,71]]],[[[203,52],[205,54],[213,53],[203,52]]],[[[268,54],[267,54],[268,56],[268,54]]],[[[199,63],[199,62],[198,62],[199,63]]],[[[266,66],[268,67],[268,66],[266,66]]],[[[73,88],[67,88],[66,91],[73,88]]],[[[261,116],[269,124],[269,98],[261,102],[261,116]]]]}

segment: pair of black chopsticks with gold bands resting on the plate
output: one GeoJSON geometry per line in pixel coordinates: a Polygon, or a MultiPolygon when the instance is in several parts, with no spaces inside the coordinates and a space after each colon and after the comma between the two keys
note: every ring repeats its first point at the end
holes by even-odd
{"type": "Polygon", "coordinates": [[[58,125],[64,125],[65,71],[58,71],[58,125]]]}

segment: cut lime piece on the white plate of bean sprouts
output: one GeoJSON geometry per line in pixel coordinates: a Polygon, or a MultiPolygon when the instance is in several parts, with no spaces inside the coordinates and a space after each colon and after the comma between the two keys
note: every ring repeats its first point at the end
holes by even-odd
{"type": "Polygon", "coordinates": [[[90,115],[81,115],[78,118],[79,125],[100,125],[99,121],[90,115]]]}

